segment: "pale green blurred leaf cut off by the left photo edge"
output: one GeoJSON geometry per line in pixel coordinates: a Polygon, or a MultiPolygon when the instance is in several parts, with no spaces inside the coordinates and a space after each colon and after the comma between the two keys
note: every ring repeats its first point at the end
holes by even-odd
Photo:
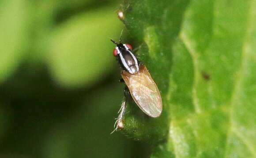
{"type": "Polygon", "coordinates": [[[24,55],[29,9],[24,0],[0,2],[0,83],[16,70],[24,55]]]}

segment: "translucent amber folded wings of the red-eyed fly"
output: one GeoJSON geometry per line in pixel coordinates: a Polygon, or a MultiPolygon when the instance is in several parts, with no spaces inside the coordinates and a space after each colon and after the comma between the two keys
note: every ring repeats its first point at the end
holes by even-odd
{"type": "Polygon", "coordinates": [[[139,108],[151,117],[158,117],[162,113],[162,98],[147,68],[140,64],[138,73],[123,71],[121,75],[139,108]]]}

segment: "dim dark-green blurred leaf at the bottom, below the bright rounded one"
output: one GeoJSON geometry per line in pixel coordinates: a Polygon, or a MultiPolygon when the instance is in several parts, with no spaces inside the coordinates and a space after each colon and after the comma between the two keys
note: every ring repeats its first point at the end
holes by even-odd
{"type": "Polygon", "coordinates": [[[120,86],[107,86],[87,96],[75,117],[50,132],[45,158],[132,158],[134,143],[118,133],[110,135],[120,91],[120,86]]]}

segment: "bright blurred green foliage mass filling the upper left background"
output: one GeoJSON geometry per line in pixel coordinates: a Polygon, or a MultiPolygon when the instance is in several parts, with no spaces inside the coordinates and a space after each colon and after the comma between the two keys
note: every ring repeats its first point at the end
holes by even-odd
{"type": "Polygon", "coordinates": [[[60,86],[78,88],[102,80],[115,64],[109,37],[119,36],[121,22],[116,4],[94,5],[91,0],[1,2],[0,82],[24,60],[49,65],[60,86]]]}

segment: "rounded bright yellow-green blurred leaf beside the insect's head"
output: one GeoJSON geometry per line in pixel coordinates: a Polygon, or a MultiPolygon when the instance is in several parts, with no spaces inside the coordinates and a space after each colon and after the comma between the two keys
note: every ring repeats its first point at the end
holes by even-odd
{"type": "Polygon", "coordinates": [[[77,15],[56,28],[49,54],[49,66],[63,86],[91,85],[111,71],[113,43],[120,34],[120,22],[112,7],[77,15]]]}

